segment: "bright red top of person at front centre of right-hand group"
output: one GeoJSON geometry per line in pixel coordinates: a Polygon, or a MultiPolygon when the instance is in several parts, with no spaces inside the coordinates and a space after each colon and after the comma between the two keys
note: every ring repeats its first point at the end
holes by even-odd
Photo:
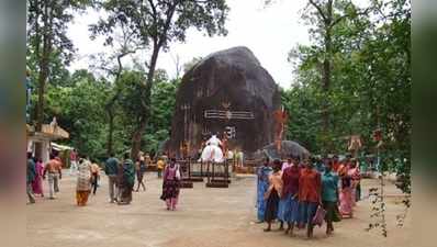
{"type": "Polygon", "coordinates": [[[299,179],[299,201],[320,202],[321,188],[321,173],[314,169],[303,169],[299,179]]]}

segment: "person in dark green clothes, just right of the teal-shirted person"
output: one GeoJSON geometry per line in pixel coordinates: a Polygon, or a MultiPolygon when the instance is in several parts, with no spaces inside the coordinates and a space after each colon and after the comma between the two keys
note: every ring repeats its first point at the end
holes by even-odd
{"type": "Polygon", "coordinates": [[[124,154],[122,172],[119,184],[119,190],[121,190],[119,205],[126,205],[132,202],[132,190],[135,183],[135,166],[128,153],[124,154]]]}

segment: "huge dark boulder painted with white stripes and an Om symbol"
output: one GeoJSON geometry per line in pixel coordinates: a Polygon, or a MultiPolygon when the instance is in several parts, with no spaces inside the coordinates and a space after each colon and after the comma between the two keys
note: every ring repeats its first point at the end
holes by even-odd
{"type": "Polygon", "coordinates": [[[280,100],[273,78],[248,48],[213,53],[182,78],[168,148],[179,154],[188,141],[195,155],[211,134],[226,133],[231,149],[254,153],[273,141],[272,112],[280,100]]]}

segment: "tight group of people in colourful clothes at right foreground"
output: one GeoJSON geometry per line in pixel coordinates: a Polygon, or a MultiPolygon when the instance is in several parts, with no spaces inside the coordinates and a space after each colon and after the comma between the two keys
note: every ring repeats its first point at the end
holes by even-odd
{"type": "Polygon", "coordinates": [[[311,238],[314,226],[325,221],[330,235],[335,222],[354,216],[361,197],[360,171],[351,157],[301,160],[290,156],[284,162],[266,158],[257,177],[257,217],[258,223],[267,223],[265,232],[278,222],[279,231],[293,235],[295,228],[306,228],[311,238]]]}

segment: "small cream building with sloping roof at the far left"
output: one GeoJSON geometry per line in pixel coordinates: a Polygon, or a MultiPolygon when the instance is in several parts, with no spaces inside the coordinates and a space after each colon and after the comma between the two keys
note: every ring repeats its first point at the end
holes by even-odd
{"type": "Polygon", "coordinates": [[[51,124],[43,124],[41,132],[36,132],[33,126],[26,124],[26,132],[27,151],[35,154],[35,144],[41,143],[43,146],[43,162],[48,161],[52,149],[56,149],[54,148],[53,141],[69,138],[69,133],[57,125],[56,119],[51,124]]]}

